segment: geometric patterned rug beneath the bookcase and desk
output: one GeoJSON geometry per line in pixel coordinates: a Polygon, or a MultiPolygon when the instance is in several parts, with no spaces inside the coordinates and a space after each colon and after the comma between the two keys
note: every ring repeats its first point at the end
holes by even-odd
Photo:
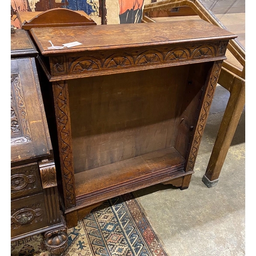
{"type": "MultiPolygon", "coordinates": [[[[68,229],[63,256],[167,256],[132,194],[112,198],[68,229]]],[[[11,256],[50,256],[38,234],[11,244],[11,256]]]]}

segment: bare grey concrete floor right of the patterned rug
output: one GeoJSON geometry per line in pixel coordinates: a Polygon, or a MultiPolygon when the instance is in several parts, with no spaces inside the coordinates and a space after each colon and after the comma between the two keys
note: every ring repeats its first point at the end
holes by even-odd
{"type": "Polygon", "coordinates": [[[135,192],[170,256],[245,255],[245,109],[217,186],[201,181],[228,97],[217,86],[189,188],[159,184],[135,192]]]}

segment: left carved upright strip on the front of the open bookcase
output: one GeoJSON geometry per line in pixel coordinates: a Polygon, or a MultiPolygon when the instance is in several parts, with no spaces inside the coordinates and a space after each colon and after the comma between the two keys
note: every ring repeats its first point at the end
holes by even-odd
{"type": "Polygon", "coordinates": [[[66,186],[66,189],[64,189],[66,207],[70,208],[75,206],[76,199],[67,83],[55,82],[53,84],[53,94],[58,125],[59,151],[61,153],[61,172],[66,186]]]}

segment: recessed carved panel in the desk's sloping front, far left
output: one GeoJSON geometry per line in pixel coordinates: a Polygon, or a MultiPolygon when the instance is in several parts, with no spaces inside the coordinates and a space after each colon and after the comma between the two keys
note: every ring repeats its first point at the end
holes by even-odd
{"type": "Polygon", "coordinates": [[[11,145],[31,141],[19,74],[11,74],[11,145]]]}

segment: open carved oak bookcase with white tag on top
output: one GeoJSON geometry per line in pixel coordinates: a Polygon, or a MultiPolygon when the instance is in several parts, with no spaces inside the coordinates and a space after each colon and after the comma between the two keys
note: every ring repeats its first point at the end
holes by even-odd
{"type": "Polygon", "coordinates": [[[230,32],[204,20],[32,28],[68,227],[106,199],[187,188],[230,32]],[[61,46],[49,50],[51,40],[61,46]]]}

